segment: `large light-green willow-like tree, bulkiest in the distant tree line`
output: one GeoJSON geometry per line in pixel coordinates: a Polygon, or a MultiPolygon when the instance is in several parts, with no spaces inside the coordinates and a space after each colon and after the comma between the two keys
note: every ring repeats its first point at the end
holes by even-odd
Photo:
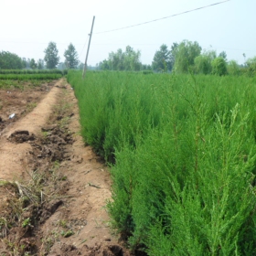
{"type": "Polygon", "coordinates": [[[194,66],[195,59],[201,53],[199,44],[184,40],[176,48],[175,69],[178,73],[187,73],[194,66]]]}

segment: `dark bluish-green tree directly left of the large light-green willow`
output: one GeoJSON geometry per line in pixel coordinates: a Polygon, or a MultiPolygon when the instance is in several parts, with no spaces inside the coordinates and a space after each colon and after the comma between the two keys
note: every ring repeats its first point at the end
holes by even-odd
{"type": "Polygon", "coordinates": [[[168,47],[163,44],[159,50],[155,52],[155,56],[152,62],[152,69],[154,70],[171,70],[172,65],[170,61],[171,52],[168,47]]]}

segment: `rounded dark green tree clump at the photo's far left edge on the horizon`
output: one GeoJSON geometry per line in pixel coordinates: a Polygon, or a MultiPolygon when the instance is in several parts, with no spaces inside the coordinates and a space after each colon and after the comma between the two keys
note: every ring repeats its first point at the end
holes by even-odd
{"type": "Polygon", "coordinates": [[[15,53],[8,51],[0,52],[0,69],[22,69],[24,68],[22,59],[15,53]]]}

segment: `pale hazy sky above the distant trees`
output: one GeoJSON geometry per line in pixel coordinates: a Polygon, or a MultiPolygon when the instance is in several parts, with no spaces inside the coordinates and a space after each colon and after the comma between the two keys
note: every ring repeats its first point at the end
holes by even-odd
{"type": "Polygon", "coordinates": [[[88,65],[95,66],[118,48],[141,51],[151,64],[155,51],[165,44],[187,39],[203,50],[226,51],[228,59],[243,64],[256,56],[256,0],[229,0],[180,16],[108,33],[120,27],[172,16],[223,0],[0,0],[0,51],[21,58],[44,59],[53,41],[60,61],[72,43],[84,62],[95,16],[88,65]],[[245,54],[246,59],[244,59],[245,54]]]}

